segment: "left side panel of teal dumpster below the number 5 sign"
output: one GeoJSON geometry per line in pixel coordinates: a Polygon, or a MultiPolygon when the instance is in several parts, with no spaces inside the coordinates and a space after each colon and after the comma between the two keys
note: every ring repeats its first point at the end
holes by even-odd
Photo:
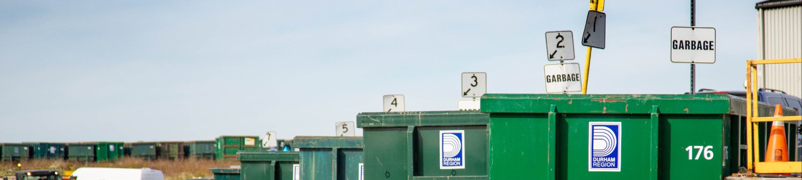
{"type": "Polygon", "coordinates": [[[300,153],[301,178],[306,180],[331,179],[333,172],[333,150],[332,149],[308,149],[300,153]]]}

